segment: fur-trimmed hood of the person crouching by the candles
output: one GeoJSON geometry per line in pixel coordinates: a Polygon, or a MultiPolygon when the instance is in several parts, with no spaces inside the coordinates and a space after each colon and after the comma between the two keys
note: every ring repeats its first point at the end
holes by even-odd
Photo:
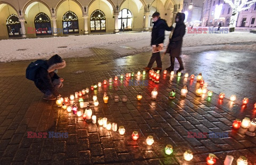
{"type": "Polygon", "coordinates": [[[49,60],[47,60],[48,69],[47,71],[50,73],[55,69],[61,69],[66,67],[66,61],[62,60],[58,54],[52,56],[49,60]]]}

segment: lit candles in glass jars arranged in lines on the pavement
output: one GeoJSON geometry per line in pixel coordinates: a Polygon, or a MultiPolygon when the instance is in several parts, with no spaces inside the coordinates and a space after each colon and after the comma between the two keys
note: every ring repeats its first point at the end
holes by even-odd
{"type": "MultiPolygon", "coordinates": [[[[166,73],[167,73],[167,71],[164,71],[164,75],[166,75],[166,73]]],[[[145,74],[146,74],[146,71],[143,71],[142,75],[145,75],[145,74]]],[[[141,73],[140,73],[140,71],[138,71],[137,76],[140,76],[140,75],[141,75],[141,73]]],[[[171,72],[171,76],[173,76],[173,75],[174,75],[174,72],[172,71],[172,72],[171,72]]],[[[129,77],[131,77],[131,76],[134,76],[134,72],[132,72],[132,73],[126,73],[126,78],[129,78],[129,77]]],[[[157,71],[157,72],[155,73],[155,72],[152,70],[152,71],[150,71],[149,76],[150,76],[150,79],[152,79],[153,81],[155,81],[155,83],[159,83],[159,71],[157,71]]],[[[179,73],[178,73],[178,77],[180,77],[180,76],[181,76],[181,73],[179,72],[179,73]]],[[[188,73],[186,73],[186,74],[185,74],[185,78],[188,78],[188,76],[189,76],[188,73]]],[[[194,75],[191,75],[191,76],[190,76],[190,79],[193,80],[194,77],[195,77],[194,75]]],[[[123,75],[121,75],[120,78],[123,79],[123,75]]],[[[115,79],[114,79],[114,80],[115,80],[115,81],[118,80],[117,76],[115,76],[115,79]]],[[[109,83],[112,83],[112,81],[113,81],[113,79],[110,78],[110,79],[109,79],[109,83]]],[[[207,84],[204,84],[204,80],[202,79],[202,73],[200,73],[200,74],[197,76],[197,82],[201,84],[201,87],[198,88],[199,90],[196,91],[196,94],[197,94],[197,96],[202,96],[202,95],[201,95],[201,91],[202,91],[202,94],[205,94],[205,93],[207,92],[207,89],[206,89],[207,84]],[[203,88],[202,88],[202,86],[203,86],[203,88]],[[200,90],[200,89],[201,89],[201,90],[200,90]]],[[[104,80],[104,81],[103,81],[103,85],[106,85],[106,84],[107,84],[107,80],[104,80]]],[[[93,86],[91,86],[91,90],[97,89],[97,87],[101,87],[101,82],[98,83],[98,86],[97,86],[96,84],[94,84],[93,86]]],[[[76,93],[75,93],[75,96],[74,96],[74,95],[70,95],[70,100],[71,100],[70,103],[72,103],[72,102],[74,101],[74,98],[78,98],[78,97],[79,97],[79,104],[80,104],[81,108],[84,108],[84,107],[83,107],[83,100],[82,100],[83,98],[82,98],[81,96],[82,96],[82,95],[85,95],[85,94],[87,94],[87,93],[89,93],[89,92],[90,92],[89,88],[86,88],[86,89],[83,89],[83,90],[80,91],[80,92],[76,92],[76,93]],[[82,98],[82,99],[81,99],[81,98],[82,98]]],[[[188,92],[187,87],[184,86],[184,87],[181,89],[181,97],[186,97],[187,92],[188,92]]],[[[211,96],[212,96],[212,93],[213,93],[212,91],[209,91],[209,92],[208,92],[208,96],[211,97],[211,96]]],[[[152,99],[152,100],[156,100],[157,94],[158,94],[157,89],[154,88],[153,91],[151,92],[151,99],[152,99]]],[[[220,99],[223,99],[224,97],[225,97],[225,94],[223,94],[223,93],[221,93],[220,96],[219,96],[220,99]]],[[[124,97],[124,98],[123,98],[123,102],[126,102],[126,101],[125,101],[125,98],[126,98],[126,101],[127,101],[127,97],[124,97]]],[[[139,93],[139,94],[137,95],[137,100],[140,101],[141,98],[142,98],[142,95],[141,95],[141,93],[139,93]]],[[[174,90],[174,89],[170,92],[169,98],[171,98],[171,99],[175,98],[175,90],[174,90]]],[[[231,101],[235,101],[235,98],[236,98],[236,96],[233,95],[233,96],[230,97],[230,100],[231,100],[231,101]]],[[[63,98],[61,97],[61,98],[57,99],[57,102],[58,102],[57,105],[60,106],[61,103],[59,103],[58,100],[62,100],[62,101],[63,101],[63,98]]],[[[118,102],[118,101],[119,101],[119,97],[118,97],[118,96],[115,96],[115,99],[114,99],[114,100],[115,100],[115,102],[118,102]]],[[[97,101],[97,96],[93,96],[93,101],[94,101],[94,105],[95,105],[95,106],[98,106],[98,105],[99,105],[99,102],[97,101]]],[[[107,96],[106,93],[105,93],[104,96],[103,96],[103,101],[104,101],[104,103],[108,103],[108,96],[107,96]]],[[[249,100],[248,100],[247,98],[245,98],[244,101],[243,101],[243,103],[246,103],[246,104],[247,104],[248,101],[249,101],[249,100]]],[[[67,103],[67,102],[68,102],[68,98],[65,97],[65,103],[67,103]]],[[[77,114],[78,117],[81,117],[81,116],[83,115],[83,119],[86,119],[86,122],[92,121],[92,123],[96,123],[97,117],[96,117],[96,116],[92,116],[92,110],[90,109],[90,106],[89,106],[89,105],[87,106],[87,108],[86,108],[84,114],[82,113],[82,111],[78,111],[78,113],[77,113],[77,106],[75,105],[75,103],[73,103],[73,108],[71,108],[70,106],[68,106],[68,107],[66,106],[66,107],[65,107],[65,104],[63,103],[63,104],[62,104],[62,108],[63,108],[63,109],[67,108],[68,112],[71,112],[71,110],[73,110],[73,113],[74,113],[74,114],[77,114]]],[[[256,103],[254,104],[254,108],[256,108],[256,103]]],[[[253,131],[254,131],[255,128],[256,128],[256,122],[255,122],[255,121],[256,121],[255,119],[252,120],[252,121],[250,121],[249,118],[245,118],[245,119],[243,119],[243,121],[241,122],[241,120],[236,119],[236,120],[234,121],[234,123],[233,123],[233,127],[236,128],[236,129],[238,129],[238,128],[242,125],[243,128],[248,128],[248,130],[250,131],[250,133],[253,133],[253,131]]],[[[99,118],[99,119],[98,119],[98,123],[99,123],[100,126],[103,126],[103,127],[106,128],[107,130],[111,130],[111,128],[112,128],[113,131],[117,131],[117,123],[112,123],[112,125],[111,125],[111,123],[110,123],[109,121],[107,121],[107,118],[99,118]]],[[[124,135],[124,133],[125,133],[124,126],[120,126],[119,129],[118,129],[118,132],[119,132],[120,135],[124,135]]],[[[255,133],[254,133],[254,135],[255,135],[255,133]]],[[[132,133],[132,139],[133,139],[133,140],[137,140],[138,138],[139,138],[138,131],[133,131],[133,133],[132,133]]],[[[147,139],[146,139],[146,143],[147,143],[147,145],[152,145],[152,144],[154,143],[154,138],[153,138],[153,136],[148,136],[147,139]]],[[[166,145],[166,147],[165,147],[165,153],[166,153],[167,155],[170,155],[170,154],[172,154],[172,152],[173,152],[172,145],[170,145],[170,144],[169,144],[169,145],[166,145]]],[[[191,159],[193,159],[193,153],[192,153],[190,150],[187,150],[187,151],[183,154],[183,156],[184,156],[184,159],[185,159],[186,161],[190,161],[191,159]]],[[[227,155],[227,157],[226,157],[226,159],[225,159],[225,162],[226,162],[226,163],[224,162],[224,164],[231,164],[231,162],[233,161],[233,159],[234,159],[233,156],[227,155]],[[228,163],[227,163],[227,162],[228,162],[228,163]]],[[[209,154],[209,156],[206,158],[206,163],[207,163],[207,164],[214,164],[215,162],[216,162],[216,157],[215,157],[215,155],[214,155],[214,154],[209,154]]],[[[239,159],[237,159],[237,164],[247,164],[247,159],[246,159],[244,156],[241,156],[239,159]]]]}

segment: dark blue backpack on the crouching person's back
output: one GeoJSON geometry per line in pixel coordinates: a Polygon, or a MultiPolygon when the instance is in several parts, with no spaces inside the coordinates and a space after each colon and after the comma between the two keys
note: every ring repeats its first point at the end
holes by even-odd
{"type": "Polygon", "coordinates": [[[48,69],[45,60],[36,60],[35,62],[31,62],[26,69],[26,78],[35,81],[36,72],[41,67],[48,69]]]}

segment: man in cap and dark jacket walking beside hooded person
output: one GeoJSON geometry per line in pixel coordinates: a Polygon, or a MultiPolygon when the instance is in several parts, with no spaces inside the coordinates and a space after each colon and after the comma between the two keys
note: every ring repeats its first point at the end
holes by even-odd
{"type": "MultiPolygon", "coordinates": [[[[151,33],[151,46],[156,47],[159,44],[164,43],[164,31],[167,30],[169,27],[165,20],[161,19],[160,14],[158,12],[155,12],[152,15],[153,18],[153,29],[151,33]]],[[[157,67],[153,68],[154,70],[162,70],[162,61],[161,61],[161,55],[160,52],[153,53],[151,56],[151,59],[148,63],[148,66],[146,68],[143,68],[145,70],[150,70],[153,67],[154,62],[156,61],[157,67]]]]}

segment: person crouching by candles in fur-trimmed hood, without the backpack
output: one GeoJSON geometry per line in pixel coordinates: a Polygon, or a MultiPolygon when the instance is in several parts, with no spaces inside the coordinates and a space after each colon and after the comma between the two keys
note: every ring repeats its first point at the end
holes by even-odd
{"type": "Polygon", "coordinates": [[[59,95],[58,89],[63,86],[63,79],[56,72],[66,67],[66,61],[55,54],[49,60],[45,60],[43,65],[36,72],[35,85],[44,93],[44,100],[55,100],[55,96],[59,95]]]}

